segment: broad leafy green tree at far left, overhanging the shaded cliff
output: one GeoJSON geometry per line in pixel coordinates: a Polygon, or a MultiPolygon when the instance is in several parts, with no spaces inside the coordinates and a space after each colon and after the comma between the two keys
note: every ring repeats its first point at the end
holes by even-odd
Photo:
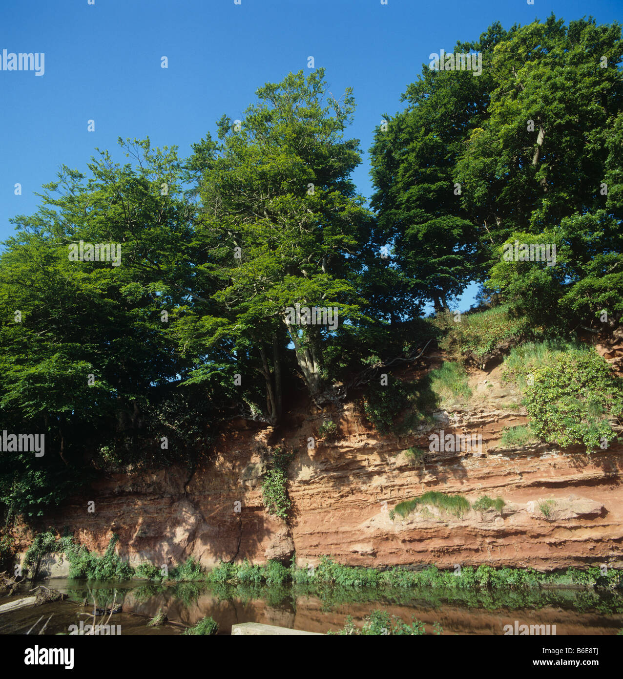
{"type": "MultiPolygon", "coordinates": [[[[176,435],[163,404],[192,364],[169,327],[195,278],[194,208],[175,149],[121,147],[134,164],[102,151],[88,175],[62,167],[37,212],[13,220],[0,258],[0,430],[45,436],[40,458],[0,453],[13,511],[58,501],[88,477],[85,460],[162,460],[160,437],[176,435]],[[119,265],[71,261],[79,241],[119,246],[119,265]]],[[[209,402],[204,392],[202,412],[209,402]]],[[[196,443],[186,435],[176,455],[196,443]]]]}

